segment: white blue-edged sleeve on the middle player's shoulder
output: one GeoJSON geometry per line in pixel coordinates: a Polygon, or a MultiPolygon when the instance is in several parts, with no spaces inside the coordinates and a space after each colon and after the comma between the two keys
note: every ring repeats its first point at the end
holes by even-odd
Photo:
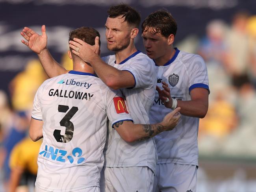
{"type": "Polygon", "coordinates": [[[134,76],[135,86],[132,88],[152,87],[156,83],[156,67],[154,61],[146,56],[136,57],[122,70],[134,76]]]}

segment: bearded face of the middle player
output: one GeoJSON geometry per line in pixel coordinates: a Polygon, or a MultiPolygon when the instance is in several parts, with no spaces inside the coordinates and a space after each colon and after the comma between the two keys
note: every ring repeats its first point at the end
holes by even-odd
{"type": "Polygon", "coordinates": [[[107,18],[106,24],[107,47],[110,51],[121,51],[131,43],[131,26],[124,22],[124,18],[107,18]]]}

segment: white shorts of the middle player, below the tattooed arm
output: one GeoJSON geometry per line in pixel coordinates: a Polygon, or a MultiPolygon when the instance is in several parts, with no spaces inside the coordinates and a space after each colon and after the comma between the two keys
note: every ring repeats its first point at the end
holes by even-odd
{"type": "Polygon", "coordinates": [[[101,192],[152,192],[154,173],[148,167],[104,167],[101,192]]]}

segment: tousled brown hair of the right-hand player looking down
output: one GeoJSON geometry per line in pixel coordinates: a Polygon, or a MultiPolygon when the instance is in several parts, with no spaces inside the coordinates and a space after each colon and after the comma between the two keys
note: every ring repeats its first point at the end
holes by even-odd
{"type": "Polygon", "coordinates": [[[177,24],[171,13],[165,9],[157,10],[143,21],[141,24],[142,32],[148,31],[150,33],[160,33],[163,37],[169,37],[169,35],[176,35],[177,24]]]}

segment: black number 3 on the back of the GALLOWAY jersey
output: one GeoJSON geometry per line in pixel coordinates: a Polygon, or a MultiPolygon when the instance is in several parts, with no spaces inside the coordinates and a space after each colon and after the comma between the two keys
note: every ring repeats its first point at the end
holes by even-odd
{"type": "MultiPolygon", "coordinates": [[[[61,113],[66,113],[69,110],[69,106],[67,105],[59,105],[58,111],[61,113]]],[[[57,142],[61,143],[67,143],[70,142],[70,140],[73,138],[74,134],[74,125],[70,121],[70,119],[74,116],[74,114],[78,111],[78,107],[72,107],[68,113],[61,119],[59,124],[63,127],[66,127],[65,129],[65,135],[61,135],[61,130],[55,129],[53,132],[53,136],[56,139],[57,142]]]]}

